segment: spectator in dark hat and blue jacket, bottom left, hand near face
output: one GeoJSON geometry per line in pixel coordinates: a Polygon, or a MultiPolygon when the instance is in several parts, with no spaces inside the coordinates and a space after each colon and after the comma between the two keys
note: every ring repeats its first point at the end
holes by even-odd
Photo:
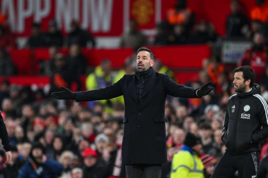
{"type": "Polygon", "coordinates": [[[63,166],[55,160],[47,159],[45,148],[40,142],[34,142],[30,157],[18,173],[18,178],[54,178],[60,176],[63,166]]]}

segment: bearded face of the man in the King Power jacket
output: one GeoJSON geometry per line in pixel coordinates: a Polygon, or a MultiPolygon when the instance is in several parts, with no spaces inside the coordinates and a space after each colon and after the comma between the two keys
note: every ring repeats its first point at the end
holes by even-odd
{"type": "Polygon", "coordinates": [[[235,92],[245,92],[247,86],[250,84],[250,80],[245,81],[243,78],[243,72],[236,72],[234,74],[233,84],[235,92]]]}

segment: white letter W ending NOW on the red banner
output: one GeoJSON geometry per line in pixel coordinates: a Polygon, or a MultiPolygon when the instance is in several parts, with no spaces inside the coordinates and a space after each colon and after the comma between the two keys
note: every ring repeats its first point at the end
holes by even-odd
{"type": "Polygon", "coordinates": [[[91,0],[91,30],[107,32],[111,29],[113,0],[91,0]],[[100,27],[102,25],[102,29],[100,27]]]}

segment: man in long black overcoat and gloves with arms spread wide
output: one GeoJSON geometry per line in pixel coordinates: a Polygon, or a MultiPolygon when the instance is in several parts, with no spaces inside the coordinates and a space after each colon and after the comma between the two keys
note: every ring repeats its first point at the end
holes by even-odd
{"type": "Polygon", "coordinates": [[[122,164],[127,178],[160,178],[161,164],[167,162],[165,102],[174,97],[200,98],[213,88],[211,81],[200,89],[179,85],[168,75],[155,72],[154,54],[147,48],[137,51],[137,70],[126,74],[113,85],[85,92],[53,92],[56,99],[75,99],[77,102],[108,100],[124,96],[124,136],[122,164]]]}

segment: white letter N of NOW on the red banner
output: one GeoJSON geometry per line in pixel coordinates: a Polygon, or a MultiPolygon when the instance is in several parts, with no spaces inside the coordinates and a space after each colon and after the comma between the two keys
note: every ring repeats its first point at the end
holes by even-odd
{"type": "Polygon", "coordinates": [[[70,23],[71,23],[71,7],[72,0],[57,0],[56,1],[56,19],[57,24],[61,28],[62,26],[62,18],[64,19],[63,24],[66,31],[70,31],[70,23]]]}

